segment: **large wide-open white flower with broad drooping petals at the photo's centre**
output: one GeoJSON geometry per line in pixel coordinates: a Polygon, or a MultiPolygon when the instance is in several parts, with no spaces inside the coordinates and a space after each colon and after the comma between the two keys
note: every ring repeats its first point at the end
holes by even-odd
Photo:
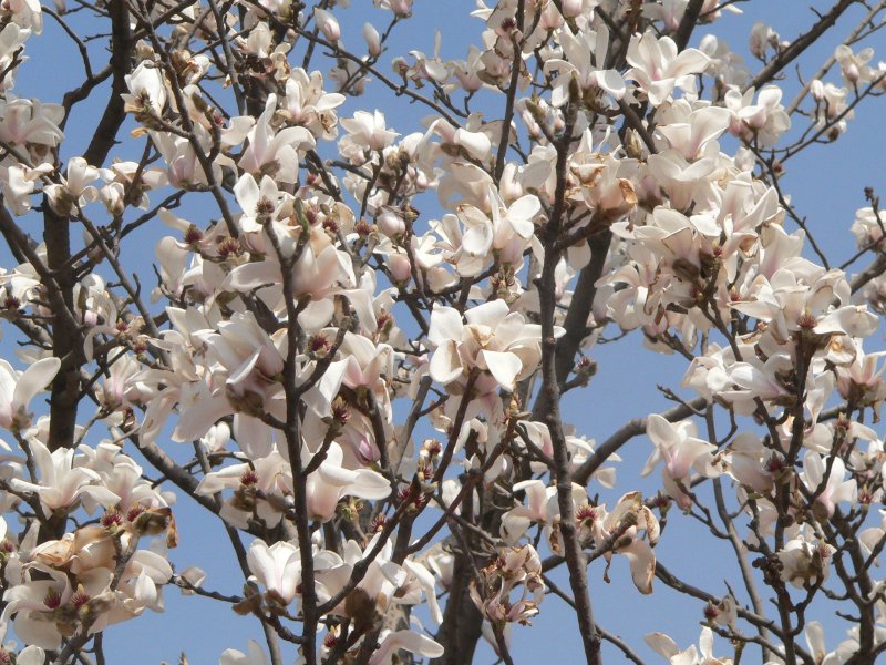
{"type": "Polygon", "coordinates": [[[478,369],[492,375],[502,389],[513,391],[538,366],[542,327],[527,324],[504,300],[468,309],[465,319],[466,325],[452,307],[434,306],[427,338],[436,346],[431,358],[435,381],[451,383],[478,369]]]}

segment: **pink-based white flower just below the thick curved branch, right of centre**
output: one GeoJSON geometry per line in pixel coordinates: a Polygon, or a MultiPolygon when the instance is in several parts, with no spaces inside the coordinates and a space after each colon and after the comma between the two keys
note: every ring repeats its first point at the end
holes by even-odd
{"type": "Polygon", "coordinates": [[[694,469],[704,475],[714,475],[711,467],[711,453],[717,446],[702,441],[696,437],[696,423],[690,420],[668,422],[658,413],[652,413],[647,419],[646,433],[656,447],[641,475],[649,475],[659,462],[664,462],[661,478],[664,481],[664,491],[683,510],[689,510],[692,499],[689,497],[689,475],[694,469]]]}

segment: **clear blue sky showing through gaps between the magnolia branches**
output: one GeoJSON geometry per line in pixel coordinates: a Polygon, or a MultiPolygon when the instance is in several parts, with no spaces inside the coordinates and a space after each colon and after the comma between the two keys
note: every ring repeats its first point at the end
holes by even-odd
{"type": "MultiPolygon", "coordinates": [[[[815,2],[824,7],[826,2],[815,2]]],[[[770,23],[781,33],[782,39],[792,39],[815,20],[807,9],[808,2],[800,0],[777,0],[769,2],[742,3],[744,16],[727,14],[713,27],[701,27],[697,30],[693,43],[708,30],[727,39],[730,45],[745,57],[751,69],[759,65],[746,53],[750,28],[756,20],[770,23]]],[[[463,58],[467,45],[478,41],[483,22],[468,18],[474,2],[468,0],[416,0],[415,17],[394,30],[390,51],[382,57],[379,65],[385,73],[390,71],[388,62],[396,54],[405,54],[409,50],[431,53],[434,48],[434,31],[443,31],[442,55],[444,58],[463,58]]],[[[344,29],[346,44],[356,51],[362,48],[360,28],[365,20],[373,21],[381,29],[390,17],[389,12],[371,8],[369,0],[352,0],[352,7],[338,13],[344,29]]],[[[859,11],[847,12],[838,23],[833,37],[812,49],[803,59],[803,72],[817,70],[833,51],[836,37],[848,32],[854,25],[854,18],[859,11]]],[[[97,30],[97,28],[96,28],[97,30]]],[[[880,38],[880,44],[883,43],[880,38]]],[[[877,45],[873,43],[870,45],[877,45]]],[[[96,63],[103,63],[104,54],[93,49],[96,63]]],[[[55,24],[47,17],[45,33],[28,43],[28,55],[31,60],[20,70],[16,92],[22,96],[37,95],[43,101],[60,101],[64,90],[75,85],[81,76],[82,68],[76,51],[70,41],[61,35],[55,24]]],[[[878,54],[883,58],[886,54],[878,54]]],[[[321,64],[328,71],[329,64],[320,59],[315,66],[321,64]]],[[[836,73],[831,79],[838,82],[836,73]]],[[[792,99],[796,90],[795,78],[784,82],[785,98],[792,99]]],[[[418,120],[426,115],[425,109],[408,105],[404,99],[393,100],[387,90],[379,85],[370,88],[367,95],[349,102],[340,115],[347,115],[358,108],[380,108],[387,112],[388,122],[401,133],[419,131],[418,120]],[[392,102],[394,105],[392,105],[392,102]]],[[[100,103],[86,102],[75,110],[68,126],[68,142],[63,147],[63,157],[69,158],[82,150],[89,137],[86,133],[94,126],[101,112],[100,103]]],[[[828,247],[831,256],[839,264],[853,253],[853,238],[848,226],[854,212],[865,204],[863,187],[872,185],[886,192],[884,173],[886,173],[886,133],[880,127],[883,117],[882,104],[876,101],[862,104],[856,119],[851,123],[848,132],[836,145],[813,146],[795,162],[789,164],[783,180],[783,187],[796,203],[801,215],[808,215],[808,224],[821,243],[828,247]]],[[[123,136],[127,140],[127,136],[123,136]]],[[[128,142],[128,154],[113,151],[112,155],[136,157],[141,145],[128,142]]],[[[154,197],[158,200],[159,197],[154,197]]],[[[183,216],[197,224],[205,225],[207,213],[199,205],[185,208],[183,216]]],[[[423,214],[429,218],[435,216],[433,206],[425,204],[423,214]]],[[[28,227],[31,221],[25,221],[28,227]]],[[[38,233],[39,222],[32,221],[30,231],[38,233]]],[[[793,229],[792,223],[786,227],[793,229]]],[[[146,246],[153,246],[159,235],[166,233],[158,226],[145,229],[133,238],[130,255],[133,270],[147,275],[145,282],[151,283],[152,273],[146,263],[146,246]]],[[[810,257],[812,257],[810,255],[810,257]]],[[[6,266],[13,264],[7,257],[6,266]]],[[[869,341],[882,348],[882,339],[869,341]]],[[[11,354],[11,347],[4,346],[4,352],[11,354]]],[[[593,357],[598,362],[598,374],[590,387],[568,396],[565,403],[565,418],[575,423],[581,433],[605,439],[626,420],[645,416],[648,412],[668,408],[657,383],[679,387],[680,378],[686,369],[686,361],[677,357],[655,356],[642,348],[637,335],[629,336],[618,344],[597,347],[593,357]]],[[[176,446],[176,444],[172,444],[176,446]]],[[[181,456],[187,457],[189,447],[181,448],[181,456]]],[[[640,489],[645,493],[653,493],[660,487],[657,474],[648,479],[639,479],[639,468],[651,450],[646,438],[637,438],[621,452],[625,461],[618,464],[620,482],[618,491],[601,491],[598,485],[593,491],[601,491],[601,499],[610,505],[620,491],[640,489]]],[[[207,520],[193,502],[183,498],[176,508],[182,546],[172,555],[177,566],[199,565],[208,573],[207,587],[223,593],[239,593],[243,581],[235,570],[229,543],[217,521],[207,520]]],[[[245,539],[248,544],[249,539],[245,539]]],[[[731,551],[710,536],[705,538],[689,518],[681,515],[676,509],[669,515],[669,525],[661,544],[657,549],[659,560],[674,573],[686,576],[705,590],[715,594],[725,593],[723,579],[739,582],[738,571],[731,551]]],[[[676,594],[658,585],[651,596],[641,596],[630,583],[627,565],[621,557],[615,557],[610,571],[611,584],[602,581],[604,563],[596,562],[589,571],[591,601],[597,621],[610,632],[622,635],[637,647],[641,656],[656,662],[656,657],[641,643],[641,636],[652,631],[662,631],[671,635],[681,647],[698,640],[701,620],[701,603],[687,602],[676,594]]],[[[562,574],[555,575],[564,587],[568,587],[562,574]]],[[[216,662],[224,648],[236,647],[246,651],[248,637],[261,640],[257,623],[253,618],[235,615],[229,607],[215,601],[200,597],[182,598],[177,591],[171,589],[166,594],[167,613],[155,615],[146,612],[138,620],[116,626],[107,632],[105,649],[109,663],[158,663],[161,659],[176,662],[177,654],[186,651],[190,663],[216,662]]],[[[825,617],[817,617],[825,621],[825,617]]],[[[830,616],[833,626],[828,631],[828,645],[835,646],[844,637],[841,623],[830,616]]],[[[540,658],[559,658],[563,662],[577,662],[580,658],[580,642],[575,635],[577,625],[568,607],[554,596],[546,598],[542,612],[534,620],[533,628],[517,626],[513,635],[513,652],[518,663],[534,662],[540,658]]],[[[721,648],[722,655],[728,649],[721,648]]],[[[610,654],[611,655],[611,654],[610,654]]],[[[756,659],[756,654],[751,654],[756,659]]],[[[492,651],[485,648],[477,657],[477,663],[492,663],[492,651]]],[[[612,658],[619,662],[619,657],[612,658]]]]}

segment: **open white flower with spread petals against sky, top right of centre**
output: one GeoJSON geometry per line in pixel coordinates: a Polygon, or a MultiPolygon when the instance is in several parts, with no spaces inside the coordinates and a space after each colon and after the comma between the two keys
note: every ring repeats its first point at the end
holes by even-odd
{"type": "Polygon", "coordinates": [[[658,38],[652,31],[631,38],[626,60],[632,69],[625,78],[637,81],[653,106],[661,105],[674,88],[694,91],[696,74],[710,64],[710,59],[698,49],[678,53],[671,38],[658,38]]]}

